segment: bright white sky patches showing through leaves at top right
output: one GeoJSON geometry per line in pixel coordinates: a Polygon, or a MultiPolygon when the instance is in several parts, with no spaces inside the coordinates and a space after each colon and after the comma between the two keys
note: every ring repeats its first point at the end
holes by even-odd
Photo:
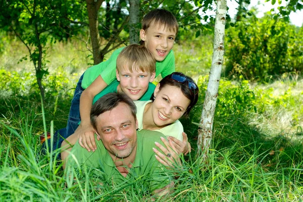
{"type": "MultiPolygon", "coordinates": [[[[234,1],[234,0],[227,0],[227,6],[229,8],[228,13],[230,15],[230,17],[232,19],[234,19],[234,16],[237,13],[236,8],[238,7],[238,4],[234,1]]],[[[286,6],[286,1],[282,0],[281,5],[278,4],[278,1],[276,1],[275,5],[271,4],[270,2],[265,3],[265,0],[263,1],[258,1],[258,0],[250,0],[250,5],[248,7],[248,9],[250,9],[251,7],[256,7],[259,10],[259,14],[257,15],[257,17],[262,17],[264,13],[266,13],[267,11],[270,11],[271,9],[275,9],[276,11],[277,8],[279,6],[286,6]]],[[[301,27],[303,24],[303,11],[297,11],[296,13],[291,13],[289,15],[290,18],[290,22],[298,27],[301,27]]]]}

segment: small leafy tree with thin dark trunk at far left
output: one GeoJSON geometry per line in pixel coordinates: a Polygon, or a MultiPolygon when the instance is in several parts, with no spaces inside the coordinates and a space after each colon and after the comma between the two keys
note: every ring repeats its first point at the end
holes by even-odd
{"type": "MultiPolygon", "coordinates": [[[[45,61],[46,42],[56,24],[54,10],[47,9],[48,6],[48,2],[39,0],[5,1],[0,14],[1,27],[13,31],[26,46],[43,100],[42,78],[48,74],[45,61]]],[[[27,56],[23,59],[26,58],[27,56]]]]}

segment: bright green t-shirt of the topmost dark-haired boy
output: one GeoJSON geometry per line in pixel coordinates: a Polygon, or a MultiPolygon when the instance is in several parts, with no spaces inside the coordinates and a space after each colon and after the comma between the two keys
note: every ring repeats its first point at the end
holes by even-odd
{"type": "MultiPolygon", "coordinates": [[[[116,49],[111,57],[102,63],[91,66],[85,71],[82,80],[82,88],[87,88],[99,75],[109,85],[116,79],[116,61],[124,47],[116,49]]],[[[162,78],[175,72],[175,56],[173,50],[161,62],[156,62],[156,77],[161,74],[162,78]]]]}

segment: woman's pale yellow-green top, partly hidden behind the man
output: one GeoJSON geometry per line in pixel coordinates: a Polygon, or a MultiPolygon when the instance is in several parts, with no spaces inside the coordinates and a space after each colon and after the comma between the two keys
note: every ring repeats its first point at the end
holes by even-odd
{"type": "MultiPolygon", "coordinates": [[[[138,130],[142,130],[143,129],[143,114],[144,114],[144,109],[145,106],[148,103],[151,103],[151,100],[148,101],[134,101],[136,107],[137,107],[137,120],[138,120],[138,130]]],[[[165,126],[161,129],[158,130],[154,130],[154,131],[159,131],[162,134],[164,134],[165,136],[172,136],[177,138],[178,140],[182,141],[183,140],[183,136],[182,136],[182,132],[183,132],[183,125],[181,124],[181,122],[179,120],[175,121],[174,123],[165,126]]]]}

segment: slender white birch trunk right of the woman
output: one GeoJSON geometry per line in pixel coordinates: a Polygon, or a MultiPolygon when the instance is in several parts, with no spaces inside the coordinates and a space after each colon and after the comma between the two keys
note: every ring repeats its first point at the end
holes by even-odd
{"type": "Polygon", "coordinates": [[[214,115],[224,56],[226,8],[226,0],[217,0],[213,61],[198,129],[197,157],[203,155],[203,160],[206,162],[213,137],[214,115]]]}

